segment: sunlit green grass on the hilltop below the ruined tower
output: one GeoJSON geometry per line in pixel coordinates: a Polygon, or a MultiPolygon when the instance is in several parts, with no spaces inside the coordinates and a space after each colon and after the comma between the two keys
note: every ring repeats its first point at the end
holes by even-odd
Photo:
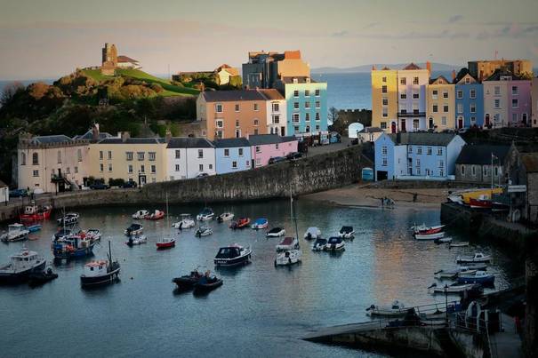
{"type": "MultiPolygon", "coordinates": [[[[99,69],[84,69],[82,71],[84,75],[91,77],[95,81],[106,81],[110,79],[110,76],[103,76],[100,73],[99,69]]],[[[170,96],[196,96],[200,91],[189,88],[171,84],[170,81],[163,78],[158,78],[156,76],[151,76],[148,73],[141,71],[140,69],[116,69],[116,76],[130,77],[147,84],[160,84],[165,91],[161,92],[160,96],[170,97],[170,96]]]]}

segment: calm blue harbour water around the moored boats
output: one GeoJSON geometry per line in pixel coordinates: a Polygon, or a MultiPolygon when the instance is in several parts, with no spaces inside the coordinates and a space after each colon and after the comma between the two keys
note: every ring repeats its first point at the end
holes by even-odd
{"type": "MultiPolygon", "coordinates": [[[[414,222],[437,224],[438,210],[381,210],[330,206],[299,200],[297,217],[303,262],[294,267],[274,267],[278,239],[250,228],[232,231],[228,224],[211,221],[213,235],[196,238],[194,230],[177,235],[176,247],[157,251],[158,237],[169,235],[166,220],[143,220],[148,243],[129,248],[124,227],[138,209],[83,209],[80,227],[98,227],[103,233],[95,258],[104,258],[108,240],[121,264],[121,282],[101,290],[82,290],[79,275],[87,260],[53,267],[60,275],[53,282],[30,289],[27,285],[0,286],[2,356],[374,356],[339,346],[302,341],[311,329],[367,320],[365,308],[389,305],[399,299],[406,306],[443,306],[443,296],[433,297],[427,287],[433,273],[455,267],[456,255],[484,251],[494,255],[495,290],[506,288],[510,261],[481,243],[449,250],[445,245],[414,241],[414,222]],[[310,251],[302,235],[310,226],[328,237],[342,225],[355,227],[354,241],[340,255],[310,251]],[[224,284],[207,296],[174,293],[174,276],[197,266],[213,269],[219,247],[230,243],[251,245],[252,263],[235,270],[219,270],[224,284]]],[[[163,209],[162,207],[159,209],[163,209]]],[[[196,215],[196,206],[171,206],[173,217],[196,215]]],[[[265,217],[269,226],[284,226],[293,234],[289,203],[213,205],[217,213],[232,211],[252,219],[265,217]]],[[[172,220],[171,220],[172,222],[172,220]]],[[[3,227],[4,229],[4,227],[3,227]]],[[[28,241],[31,250],[52,259],[51,236],[55,221],[28,241]]],[[[454,240],[469,240],[453,233],[454,240]]],[[[451,234],[452,235],[452,234],[451,234]]],[[[18,251],[21,243],[2,244],[0,262],[18,251]]]]}

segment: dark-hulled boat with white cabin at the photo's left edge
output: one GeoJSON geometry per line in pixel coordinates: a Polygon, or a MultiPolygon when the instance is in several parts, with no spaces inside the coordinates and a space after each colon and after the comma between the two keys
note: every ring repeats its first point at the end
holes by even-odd
{"type": "Polygon", "coordinates": [[[44,270],[46,261],[36,251],[23,247],[10,256],[10,263],[0,266],[0,283],[18,283],[28,280],[29,274],[44,270]]]}

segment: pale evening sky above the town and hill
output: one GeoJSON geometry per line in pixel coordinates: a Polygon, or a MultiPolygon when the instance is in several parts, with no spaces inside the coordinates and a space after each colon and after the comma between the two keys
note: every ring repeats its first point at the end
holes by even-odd
{"type": "Polygon", "coordinates": [[[538,0],[0,0],[0,80],[100,65],[101,47],[151,74],[240,67],[301,50],[311,68],[371,63],[538,63],[538,0]]]}

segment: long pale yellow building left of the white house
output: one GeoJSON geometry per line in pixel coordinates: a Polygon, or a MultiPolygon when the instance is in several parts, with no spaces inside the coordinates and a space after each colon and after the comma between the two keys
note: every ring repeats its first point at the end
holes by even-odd
{"type": "Polygon", "coordinates": [[[95,179],[124,179],[139,185],[165,181],[166,142],[163,138],[101,139],[90,145],[88,173],[95,179]]]}

